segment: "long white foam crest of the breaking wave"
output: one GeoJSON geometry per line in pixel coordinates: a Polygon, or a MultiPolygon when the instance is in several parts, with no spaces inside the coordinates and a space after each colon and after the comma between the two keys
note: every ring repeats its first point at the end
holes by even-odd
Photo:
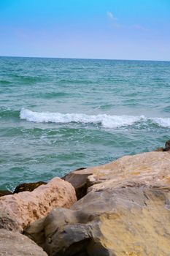
{"type": "Polygon", "coordinates": [[[20,111],[20,118],[36,123],[82,123],[82,124],[101,124],[104,128],[124,127],[135,124],[136,122],[145,123],[150,120],[161,127],[170,127],[170,118],[146,118],[144,116],[110,116],[107,114],[86,115],[82,113],[50,113],[34,112],[28,109],[20,111]]]}

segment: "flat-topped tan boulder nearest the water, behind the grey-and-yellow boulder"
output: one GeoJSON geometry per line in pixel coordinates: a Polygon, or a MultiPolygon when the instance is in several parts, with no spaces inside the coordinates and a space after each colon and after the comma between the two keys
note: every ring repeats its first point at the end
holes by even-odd
{"type": "Polygon", "coordinates": [[[81,185],[90,189],[112,185],[140,182],[144,184],[170,183],[170,154],[168,152],[149,152],[125,156],[106,165],[76,170],[64,177],[75,189],[81,185]],[[108,184],[106,183],[108,181],[108,184]],[[101,184],[96,185],[95,184],[101,184]],[[90,188],[91,187],[91,188],[90,188]]]}

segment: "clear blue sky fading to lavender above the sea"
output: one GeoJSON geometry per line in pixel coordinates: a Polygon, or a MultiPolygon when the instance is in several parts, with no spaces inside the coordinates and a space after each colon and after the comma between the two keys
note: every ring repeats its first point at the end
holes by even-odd
{"type": "Polygon", "coordinates": [[[170,0],[0,0],[0,56],[170,61],[170,0]]]}

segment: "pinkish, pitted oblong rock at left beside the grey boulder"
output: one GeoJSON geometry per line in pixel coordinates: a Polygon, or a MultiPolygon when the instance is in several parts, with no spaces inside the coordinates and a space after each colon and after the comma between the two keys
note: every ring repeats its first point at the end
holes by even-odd
{"type": "MultiPolygon", "coordinates": [[[[56,206],[69,208],[76,200],[71,184],[61,178],[53,178],[47,185],[42,185],[33,192],[1,197],[0,209],[17,223],[19,230],[23,230],[36,219],[45,217],[56,206]]],[[[7,225],[4,225],[4,228],[6,227],[7,225]]]]}

